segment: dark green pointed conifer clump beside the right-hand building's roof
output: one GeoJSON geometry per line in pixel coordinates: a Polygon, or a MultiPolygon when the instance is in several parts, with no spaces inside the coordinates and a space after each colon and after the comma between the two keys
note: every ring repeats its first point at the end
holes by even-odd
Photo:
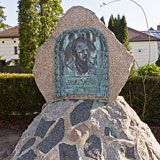
{"type": "Polygon", "coordinates": [[[114,18],[113,15],[111,15],[108,22],[108,28],[115,34],[116,38],[126,47],[126,49],[129,50],[128,28],[125,16],[122,16],[121,18],[120,15],[118,15],[117,18],[114,18]]]}

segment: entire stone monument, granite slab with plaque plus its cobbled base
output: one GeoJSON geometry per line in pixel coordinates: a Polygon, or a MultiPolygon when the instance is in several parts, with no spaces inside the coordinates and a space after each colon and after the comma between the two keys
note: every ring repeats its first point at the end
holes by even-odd
{"type": "Polygon", "coordinates": [[[12,160],[159,160],[149,127],[118,97],[131,64],[93,12],[71,8],[38,49],[34,76],[46,104],[12,160]]]}

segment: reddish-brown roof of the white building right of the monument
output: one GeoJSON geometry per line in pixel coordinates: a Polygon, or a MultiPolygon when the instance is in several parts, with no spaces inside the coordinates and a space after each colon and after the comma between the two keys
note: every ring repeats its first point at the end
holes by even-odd
{"type": "MultiPolygon", "coordinates": [[[[149,35],[128,27],[128,39],[129,42],[149,41],[149,35]]],[[[160,41],[160,38],[150,36],[150,40],[160,41]]]]}

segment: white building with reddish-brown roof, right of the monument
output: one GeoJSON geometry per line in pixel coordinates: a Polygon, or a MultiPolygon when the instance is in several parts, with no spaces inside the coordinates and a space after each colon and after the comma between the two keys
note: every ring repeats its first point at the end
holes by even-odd
{"type": "Polygon", "coordinates": [[[148,34],[128,28],[128,39],[131,54],[135,59],[136,68],[157,61],[159,56],[158,44],[160,38],[151,35],[149,44],[148,34]]]}

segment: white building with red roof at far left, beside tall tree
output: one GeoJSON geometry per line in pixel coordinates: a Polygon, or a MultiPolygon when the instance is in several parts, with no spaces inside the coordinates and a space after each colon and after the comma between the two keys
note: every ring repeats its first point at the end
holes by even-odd
{"type": "Polygon", "coordinates": [[[18,64],[19,60],[19,26],[0,31],[0,56],[11,61],[10,65],[18,64]]]}

